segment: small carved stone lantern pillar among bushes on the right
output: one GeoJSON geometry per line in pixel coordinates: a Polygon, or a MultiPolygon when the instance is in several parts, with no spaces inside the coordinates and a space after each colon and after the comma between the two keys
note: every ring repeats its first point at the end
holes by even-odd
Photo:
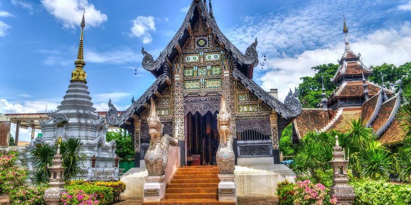
{"type": "Polygon", "coordinates": [[[332,175],[330,194],[337,198],[338,205],[351,205],[353,204],[356,194],[354,193],[354,189],[348,185],[348,160],[345,159],[345,153],[340,147],[338,136],[335,136],[335,147],[332,155],[334,157],[330,163],[334,173],[332,175]]]}

